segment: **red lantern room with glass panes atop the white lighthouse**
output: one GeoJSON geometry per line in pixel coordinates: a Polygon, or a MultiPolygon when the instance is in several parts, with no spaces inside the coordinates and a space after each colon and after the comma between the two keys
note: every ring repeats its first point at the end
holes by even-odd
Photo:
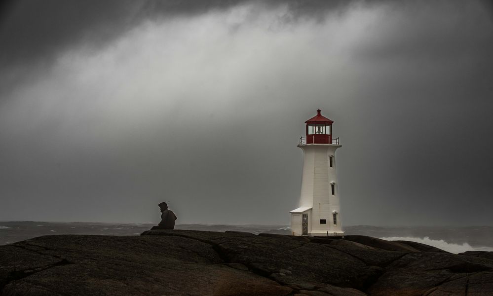
{"type": "Polygon", "coordinates": [[[322,116],[321,110],[317,110],[317,115],[306,120],[306,144],[336,144],[332,141],[332,123],[334,121],[322,116]]]}

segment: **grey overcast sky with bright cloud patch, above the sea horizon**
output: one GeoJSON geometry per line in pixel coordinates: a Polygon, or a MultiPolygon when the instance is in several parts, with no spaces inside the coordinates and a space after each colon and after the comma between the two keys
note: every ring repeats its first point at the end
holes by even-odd
{"type": "Polygon", "coordinates": [[[491,2],[2,5],[0,221],[288,224],[320,108],[344,225],[493,225],[491,2]]]}

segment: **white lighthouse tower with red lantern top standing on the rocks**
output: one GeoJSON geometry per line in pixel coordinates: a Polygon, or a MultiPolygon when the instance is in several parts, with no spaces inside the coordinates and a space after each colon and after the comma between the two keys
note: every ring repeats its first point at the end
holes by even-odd
{"type": "Polygon", "coordinates": [[[343,235],[335,158],[341,145],[332,135],[334,121],[319,109],[305,123],[306,136],[298,145],[303,150],[300,205],[290,212],[293,235],[343,235]]]}

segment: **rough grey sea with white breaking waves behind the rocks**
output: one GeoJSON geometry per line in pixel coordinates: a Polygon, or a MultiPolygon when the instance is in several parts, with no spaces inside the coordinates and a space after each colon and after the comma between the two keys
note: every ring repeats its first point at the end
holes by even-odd
{"type": "MultiPolygon", "coordinates": [[[[140,235],[151,223],[99,222],[0,222],[0,245],[11,244],[42,235],[140,235]]],[[[244,231],[254,234],[291,234],[288,225],[254,224],[177,224],[175,229],[205,231],[244,231]]],[[[345,235],[367,235],[385,240],[408,240],[434,246],[454,254],[466,251],[493,251],[493,226],[370,226],[343,228],[345,235]]]]}

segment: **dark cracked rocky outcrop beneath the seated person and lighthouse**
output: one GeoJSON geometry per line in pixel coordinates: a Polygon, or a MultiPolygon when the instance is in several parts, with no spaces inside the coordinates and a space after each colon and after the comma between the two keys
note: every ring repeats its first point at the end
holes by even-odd
{"type": "Polygon", "coordinates": [[[367,236],[150,230],[0,246],[0,295],[493,295],[488,252],[367,236]]]}

